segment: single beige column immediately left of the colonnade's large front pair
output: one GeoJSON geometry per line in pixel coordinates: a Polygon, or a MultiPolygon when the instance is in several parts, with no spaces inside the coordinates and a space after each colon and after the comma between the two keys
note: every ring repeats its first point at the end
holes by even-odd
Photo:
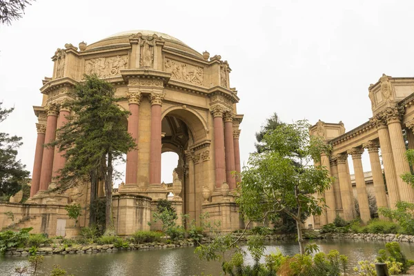
{"type": "Polygon", "coordinates": [[[362,145],[368,150],[369,160],[371,162],[371,171],[373,173],[373,185],[375,190],[375,200],[377,207],[388,207],[386,200],[386,191],[384,184],[384,177],[382,177],[382,169],[380,162],[380,155],[378,155],[378,148],[380,145],[376,141],[368,141],[362,145]]]}

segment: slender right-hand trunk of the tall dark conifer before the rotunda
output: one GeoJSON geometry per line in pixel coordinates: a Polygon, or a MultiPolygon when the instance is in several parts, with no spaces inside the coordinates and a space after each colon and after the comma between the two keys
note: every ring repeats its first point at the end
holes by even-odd
{"type": "MultiPolygon", "coordinates": [[[[104,162],[104,164],[106,161],[104,162]]],[[[105,165],[105,209],[106,209],[106,229],[103,235],[115,235],[114,215],[112,214],[112,154],[108,153],[108,166],[105,165]]]]}

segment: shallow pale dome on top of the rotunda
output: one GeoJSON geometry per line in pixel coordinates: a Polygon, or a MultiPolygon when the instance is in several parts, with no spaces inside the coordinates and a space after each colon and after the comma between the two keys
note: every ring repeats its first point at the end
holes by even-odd
{"type": "Polygon", "coordinates": [[[175,37],[172,37],[168,34],[164,34],[163,32],[155,32],[152,30],[128,30],[125,32],[117,32],[116,34],[112,34],[109,37],[106,37],[105,39],[91,43],[86,47],[86,51],[96,51],[108,48],[129,46],[129,37],[132,34],[137,34],[138,32],[141,32],[141,34],[144,36],[157,34],[158,37],[162,37],[165,40],[164,48],[179,52],[183,55],[190,55],[191,57],[196,57],[197,59],[203,59],[203,56],[199,52],[187,46],[183,41],[176,39],[175,37]]]}

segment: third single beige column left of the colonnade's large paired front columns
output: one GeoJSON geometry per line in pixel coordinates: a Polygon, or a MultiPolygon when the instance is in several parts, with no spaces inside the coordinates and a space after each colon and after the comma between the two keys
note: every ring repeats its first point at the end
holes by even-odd
{"type": "Polygon", "coordinates": [[[348,181],[348,170],[346,168],[346,159],[348,155],[345,153],[339,153],[337,155],[337,166],[338,166],[338,178],[339,178],[339,187],[341,189],[342,197],[342,209],[344,210],[344,219],[351,220],[355,218],[354,213],[354,201],[351,197],[351,190],[349,188],[348,181]]]}

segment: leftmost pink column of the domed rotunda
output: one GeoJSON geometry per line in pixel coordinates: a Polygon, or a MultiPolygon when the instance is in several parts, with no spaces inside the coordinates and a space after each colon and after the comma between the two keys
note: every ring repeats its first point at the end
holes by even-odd
{"type": "Polygon", "coordinates": [[[45,124],[36,124],[37,128],[37,141],[36,150],[34,151],[34,164],[32,173],[32,186],[30,186],[30,197],[36,195],[39,190],[40,173],[41,173],[41,160],[43,159],[43,144],[45,142],[45,124]]]}

